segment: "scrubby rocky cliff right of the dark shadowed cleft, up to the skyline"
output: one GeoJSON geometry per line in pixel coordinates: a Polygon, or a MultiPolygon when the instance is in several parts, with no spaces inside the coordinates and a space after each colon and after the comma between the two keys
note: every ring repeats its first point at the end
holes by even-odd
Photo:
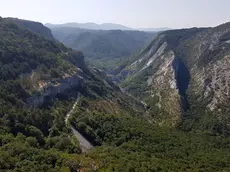
{"type": "MultiPolygon", "coordinates": [[[[226,125],[230,118],[229,37],[229,23],[211,28],[191,40],[193,53],[184,56],[192,76],[188,89],[190,101],[204,106],[204,113],[214,115],[226,125]]],[[[186,48],[184,45],[181,49],[186,48]]]]}

